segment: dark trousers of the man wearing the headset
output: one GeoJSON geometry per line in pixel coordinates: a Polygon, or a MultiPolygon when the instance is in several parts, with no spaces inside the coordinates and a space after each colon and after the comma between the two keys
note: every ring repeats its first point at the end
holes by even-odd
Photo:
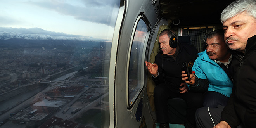
{"type": "MultiPolygon", "coordinates": [[[[157,85],[154,89],[157,122],[168,122],[167,100],[175,97],[181,97],[185,100],[187,103],[187,121],[195,125],[195,111],[202,107],[202,93],[186,92],[182,94],[178,91],[172,92],[164,83],[157,85]]],[[[175,106],[175,104],[173,105],[175,106]]]]}

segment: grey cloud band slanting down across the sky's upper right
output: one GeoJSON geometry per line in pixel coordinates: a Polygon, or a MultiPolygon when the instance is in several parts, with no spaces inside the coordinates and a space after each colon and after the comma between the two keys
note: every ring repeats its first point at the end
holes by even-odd
{"type": "Polygon", "coordinates": [[[114,26],[119,10],[118,0],[82,0],[82,5],[72,5],[59,0],[29,1],[48,10],[54,10],[60,14],[73,16],[75,19],[114,26]]]}

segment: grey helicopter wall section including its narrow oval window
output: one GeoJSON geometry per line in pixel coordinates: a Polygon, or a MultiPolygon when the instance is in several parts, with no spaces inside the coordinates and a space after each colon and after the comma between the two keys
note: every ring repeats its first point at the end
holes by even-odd
{"type": "Polygon", "coordinates": [[[147,42],[158,19],[155,4],[149,0],[125,0],[115,58],[115,74],[112,74],[117,128],[137,128],[143,124],[147,124],[149,128],[154,126],[149,111],[144,67],[147,42]],[[137,40],[142,39],[137,38],[140,33],[143,40],[137,40]]]}

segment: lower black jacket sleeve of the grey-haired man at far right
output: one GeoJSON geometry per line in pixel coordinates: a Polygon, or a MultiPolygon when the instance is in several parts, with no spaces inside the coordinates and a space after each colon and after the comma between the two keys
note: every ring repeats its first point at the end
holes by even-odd
{"type": "Polygon", "coordinates": [[[235,97],[233,92],[234,86],[230,98],[228,100],[228,104],[224,107],[223,111],[221,112],[220,121],[226,121],[231,128],[236,128],[240,124],[240,121],[234,109],[235,97]]]}

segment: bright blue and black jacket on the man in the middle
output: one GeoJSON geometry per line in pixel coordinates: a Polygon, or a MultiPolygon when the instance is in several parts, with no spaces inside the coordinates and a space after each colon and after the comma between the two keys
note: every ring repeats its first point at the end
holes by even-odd
{"type": "Polygon", "coordinates": [[[198,90],[198,88],[204,86],[204,91],[215,91],[226,97],[230,97],[233,83],[224,69],[214,60],[209,58],[206,50],[200,52],[198,55],[199,57],[195,60],[192,71],[195,72],[195,75],[199,78],[200,82],[197,81],[197,84],[192,86],[188,85],[189,89],[198,90]]]}

